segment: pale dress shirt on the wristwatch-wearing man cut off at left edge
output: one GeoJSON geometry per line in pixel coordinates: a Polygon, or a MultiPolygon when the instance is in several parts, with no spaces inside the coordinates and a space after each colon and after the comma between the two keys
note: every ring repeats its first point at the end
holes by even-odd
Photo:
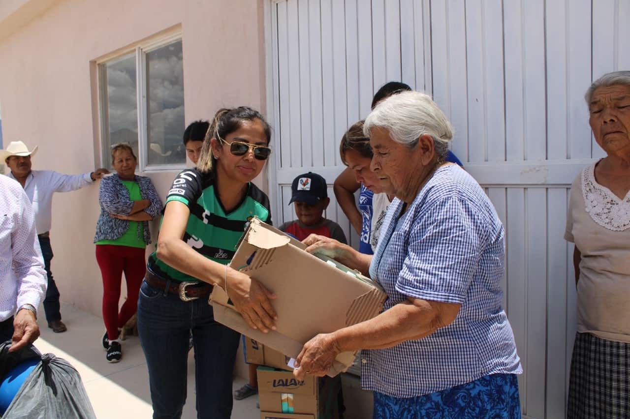
{"type": "Polygon", "coordinates": [[[18,182],[0,175],[0,321],[23,304],[37,308],[46,284],[31,203],[18,182]]]}

